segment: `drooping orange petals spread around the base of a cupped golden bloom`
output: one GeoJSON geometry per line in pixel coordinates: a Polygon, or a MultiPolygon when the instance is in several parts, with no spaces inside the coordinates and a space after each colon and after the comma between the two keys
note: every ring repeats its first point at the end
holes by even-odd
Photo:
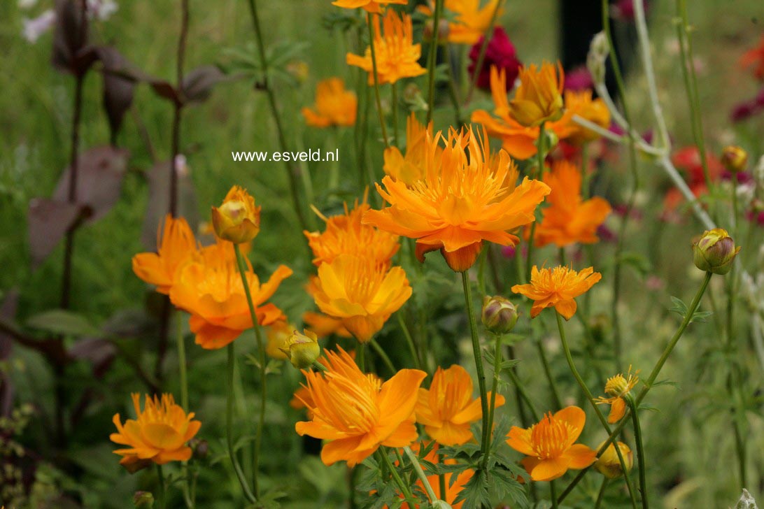
{"type": "MultiPolygon", "coordinates": [[[[510,156],[516,159],[529,159],[536,155],[536,140],[539,138],[539,127],[525,127],[510,114],[510,103],[507,100],[507,74],[504,69],[490,68],[490,92],[494,98],[494,116],[485,110],[472,112],[471,121],[483,124],[490,137],[499,138],[502,147],[510,156]]],[[[558,121],[544,124],[545,130],[552,131],[559,140],[564,140],[575,132],[571,118],[573,114],[566,111],[558,121]]]]}

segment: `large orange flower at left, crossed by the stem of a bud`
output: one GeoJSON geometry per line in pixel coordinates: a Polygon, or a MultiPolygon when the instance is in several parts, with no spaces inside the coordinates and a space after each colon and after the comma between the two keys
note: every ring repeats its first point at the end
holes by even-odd
{"type": "MultiPolygon", "coordinates": [[[[231,245],[221,241],[207,246],[201,254],[201,259],[180,270],[170,291],[170,301],[191,314],[189,324],[196,333],[196,344],[214,350],[231,343],[253,324],[231,245]]],[[[292,275],[292,270],[281,265],[261,285],[248,260],[246,263],[258,323],[269,325],[284,320],[281,310],[265,301],[274,295],[283,279],[292,275]]]]}

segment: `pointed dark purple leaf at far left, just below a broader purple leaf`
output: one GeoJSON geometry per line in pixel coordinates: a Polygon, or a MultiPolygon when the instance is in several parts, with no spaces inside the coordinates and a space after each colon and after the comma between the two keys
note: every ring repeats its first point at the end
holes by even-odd
{"type": "Polygon", "coordinates": [[[47,258],[77,217],[79,206],[66,201],[34,198],[29,202],[27,226],[33,267],[47,258]]]}

